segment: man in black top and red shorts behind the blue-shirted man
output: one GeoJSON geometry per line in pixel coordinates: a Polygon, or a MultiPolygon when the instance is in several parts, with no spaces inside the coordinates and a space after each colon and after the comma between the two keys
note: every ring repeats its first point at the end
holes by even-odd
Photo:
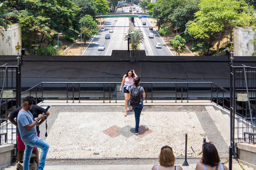
{"type": "MultiPolygon", "coordinates": [[[[14,111],[12,111],[9,115],[8,115],[8,120],[14,124],[15,126],[17,126],[17,149],[18,149],[18,152],[17,152],[17,163],[23,159],[23,155],[24,155],[24,151],[25,151],[25,145],[24,143],[22,142],[21,138],[20,138],[20,133],[19,133],[19,129],[18,129],[18,124],[17,122],[14,120],[14,118],[17,118],[18,117],[18,113],[20,111],[22,107],[19,107],[17,109],[14,109],[14,111]]],[[[40,107],[40,106],[37,106],[37,105],[33,105],[32,109],[29,110],[32,114],[33,114],[33,117],[38,117],[39,114],[43,114],[44,112],[44,108],[43,107],[40,107]]],[[[50,113],[49,111],[46,112],[46,117],[49,117],[50,113]]],[[[45,120],[42,120],[39,124],[42,124],[45,120]]],[[[39,137],[39,126],[36,126],[36,131],[37,131],[37,136],[39,137]]],[[[39,164],[39,158],[38,158],[38,150],[37,148],[34,148],[33,149],[33,154],[36,155],[36,164],[38,165],[39,164]]]]}

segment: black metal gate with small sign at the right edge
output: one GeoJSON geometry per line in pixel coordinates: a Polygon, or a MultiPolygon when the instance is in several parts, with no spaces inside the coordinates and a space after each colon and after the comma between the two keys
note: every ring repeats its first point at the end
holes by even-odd
{"type": "Polygon", "coordinates": [[[230,67],[230,146],[255,138],[256,67],[230,67]]]}

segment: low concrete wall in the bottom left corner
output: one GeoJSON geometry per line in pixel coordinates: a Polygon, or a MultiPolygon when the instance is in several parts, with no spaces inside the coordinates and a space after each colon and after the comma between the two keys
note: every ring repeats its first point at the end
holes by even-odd
{"type": "Polygon", "coordinates": [[[13,147],[12,144],[0,145],[0,170],[11,165],[13,147]]]}

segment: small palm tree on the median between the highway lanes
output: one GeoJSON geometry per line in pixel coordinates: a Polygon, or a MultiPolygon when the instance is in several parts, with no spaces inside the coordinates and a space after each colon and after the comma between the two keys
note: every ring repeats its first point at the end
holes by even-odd
{"type": "MultiPolygon", "coordinates": [[[[136,50],[136,47],[137,47],[138,44],[140,44],[140,43],[143,44],[144,36],[143,36],[143,33],[140,29],[135,29],[134,30],[134,29],[130,28],[128,30],[128,33],[130,33],[130,32],[134,32],[130,35],[130,42],[131,42],[131,44],[134,45],[135,50],[136,50]]],[[[125,41],[128,40],[128,36],[125,36],[124,40],[125,41]]]]}

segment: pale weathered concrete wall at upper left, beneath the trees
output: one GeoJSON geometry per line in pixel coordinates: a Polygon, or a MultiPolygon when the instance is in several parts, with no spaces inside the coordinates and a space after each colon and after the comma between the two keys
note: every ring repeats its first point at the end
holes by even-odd
{"type": "MultiPolygon", "coordinates": [[[[17,41],[21,45],[21,28],[19,24],[12,25],[5,30],[0,30],[0,55],[17,55],[17,41]]],[[[21,52],[21,50],[19,50],[21,52]]],[[[19,53],[21,55],[21,53],[19,53]]]]}

